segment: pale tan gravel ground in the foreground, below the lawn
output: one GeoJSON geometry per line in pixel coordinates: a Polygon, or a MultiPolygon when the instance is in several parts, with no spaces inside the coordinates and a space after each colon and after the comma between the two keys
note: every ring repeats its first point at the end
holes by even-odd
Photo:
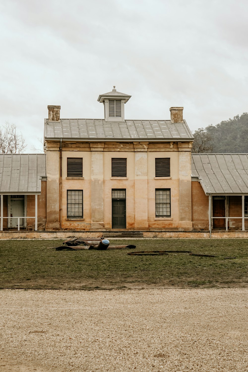
{"type": "Polygon", "coordinates": [[[0,291],[0,371],[248,371],[248,289],[0,291]]]}

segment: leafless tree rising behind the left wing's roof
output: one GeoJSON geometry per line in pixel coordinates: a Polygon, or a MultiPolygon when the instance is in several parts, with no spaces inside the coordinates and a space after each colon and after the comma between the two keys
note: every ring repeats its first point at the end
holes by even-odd
{"type": "Polygon", "coordinates": [[[17,132],[16,125],[6,121],[0,127],[0,154],[21,154],[26,147],[25,139],[17,132]]]}

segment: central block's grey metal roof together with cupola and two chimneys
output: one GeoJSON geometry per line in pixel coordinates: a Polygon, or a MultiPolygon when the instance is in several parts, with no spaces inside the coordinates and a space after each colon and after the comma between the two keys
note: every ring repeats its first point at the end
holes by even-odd
{"type": "Polygon", "coordinates": [[[183,107],[171,107],[170,120],[125,120],[124,105],[128,94],[112,92],[100,94],[104,119],[61,119],[60,106],[48,106],[49,118],[45,119],[45,140],[64,139],[75,141],[193,141],[183,107]]]}

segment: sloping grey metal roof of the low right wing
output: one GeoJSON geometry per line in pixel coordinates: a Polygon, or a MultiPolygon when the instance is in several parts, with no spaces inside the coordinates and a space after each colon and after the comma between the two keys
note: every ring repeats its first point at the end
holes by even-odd
{"type": "Polygon", "coordinates": [[[205,194],[248,194],[248,154],[192,154],[205,194]]]}

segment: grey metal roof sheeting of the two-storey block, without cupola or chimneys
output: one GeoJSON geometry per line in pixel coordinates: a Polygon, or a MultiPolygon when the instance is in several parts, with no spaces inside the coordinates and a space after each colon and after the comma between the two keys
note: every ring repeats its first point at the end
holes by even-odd
{"type": "Polygon", "coordinates": [[[104,119],[45,119],[45,138],[78,140],[193,140],[186,121],[172,124],[170,120],[125,120],[106,122],[104,119]]]}

